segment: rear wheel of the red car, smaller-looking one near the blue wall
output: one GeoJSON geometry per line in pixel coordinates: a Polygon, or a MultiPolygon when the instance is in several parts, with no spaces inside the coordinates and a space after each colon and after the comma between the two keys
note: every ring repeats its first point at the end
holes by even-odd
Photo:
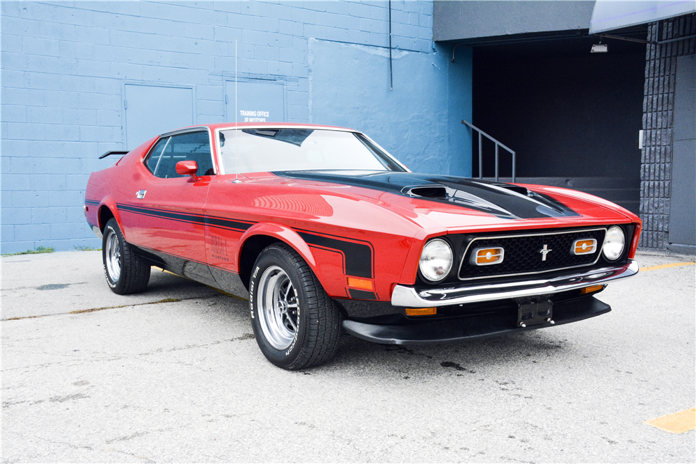
{"type": "Polygon", "coordinates": [[[150,266],[125,241],[114,218],[104,227],[102,261],[106,283],[114,293],[134,294],[148,286],[150,266]]]}

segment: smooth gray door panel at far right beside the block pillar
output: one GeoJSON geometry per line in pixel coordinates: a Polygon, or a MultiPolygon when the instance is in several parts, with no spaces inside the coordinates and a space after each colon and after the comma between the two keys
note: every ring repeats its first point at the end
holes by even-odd
{"type": "Polygon", "coordinates": [[[670,243],[696,245],[696,55],[677,58],[670,243]]]}

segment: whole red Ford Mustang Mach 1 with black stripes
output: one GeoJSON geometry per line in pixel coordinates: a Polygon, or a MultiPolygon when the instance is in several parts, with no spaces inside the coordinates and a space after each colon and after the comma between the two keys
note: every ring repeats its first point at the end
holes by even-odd
{"type": "Polygon", "coordinates": [[[113,291],[154,265],[246,296],[285,369],[344,332],[454,342],[609,312],[594,294],[638,272],[641,227],[585,193],[411,173],[350,129],[257,123],[152,138],[91,175],[85,215],[113,291]]]}

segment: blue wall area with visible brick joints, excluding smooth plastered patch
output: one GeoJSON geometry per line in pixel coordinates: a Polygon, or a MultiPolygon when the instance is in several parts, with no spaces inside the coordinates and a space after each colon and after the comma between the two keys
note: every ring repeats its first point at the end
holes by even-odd
{"type": "MultiPolygon", "coordinates": [[[[113,163],[97,157],[124,148],[124,83],[193,86],[194,122],[221,122],[237,38],[239,77],[285,81],[287,120],[322,122],[312,121],[308,40],[386,47],[389,39],[387,1],[2,1],[0,8],[1,253],[101,246],[84,221],[84,189],[93,170],[113,163]]],[[[395,49],[451,53],[432,42],[432,1],[392,8],[395,49]]],[[[459,61],[470,66],[470,56],[459,61]]],[[[470,114],[470,96],[462,102],[470,114]]],[[[461,157],[465,142],[450,143],[447,156],[461,157]]]]}

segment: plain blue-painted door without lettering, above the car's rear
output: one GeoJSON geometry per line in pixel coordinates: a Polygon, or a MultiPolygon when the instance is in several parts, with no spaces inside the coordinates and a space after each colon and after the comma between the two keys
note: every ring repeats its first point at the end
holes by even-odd
{"type": "Polygon", "coordinates": [[[163,132],[193,125],[193,89],[125,85],[126,148],[163,132]]]}

